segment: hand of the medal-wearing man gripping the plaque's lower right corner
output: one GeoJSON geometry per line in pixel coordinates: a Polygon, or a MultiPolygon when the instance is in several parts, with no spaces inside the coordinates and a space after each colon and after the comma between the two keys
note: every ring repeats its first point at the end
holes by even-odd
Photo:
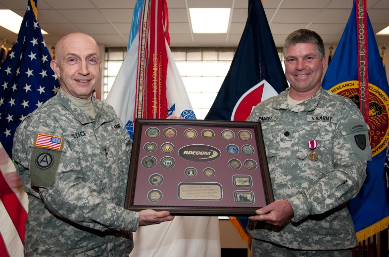
{"type": "Polygon", "coordinates": [[[257,215],[250,216],[250,220],[259,220],[275,226],[286,224],[293,217],[293,208],[287,200],[277,200],[268,206],[256,210],[257,215]]]}

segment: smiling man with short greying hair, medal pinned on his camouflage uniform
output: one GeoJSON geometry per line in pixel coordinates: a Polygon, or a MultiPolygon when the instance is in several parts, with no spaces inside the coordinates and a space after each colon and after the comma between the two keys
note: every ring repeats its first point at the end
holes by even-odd
{"type": "Polygon", "coordinates": [[[344,203],[366,177],[368,126],[354,102],[321,87],[319,35],[293,32],[284,57],[291,87],[248,118],[261,123],[276,200],[249,217],[253,256],[351,256],[357,239],[344,203]]]}

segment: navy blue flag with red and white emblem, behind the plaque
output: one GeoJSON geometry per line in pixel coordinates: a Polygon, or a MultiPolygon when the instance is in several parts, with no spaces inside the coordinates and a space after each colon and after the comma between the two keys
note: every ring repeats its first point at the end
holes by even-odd
{"type": "MultiPolygon", "coordinates": [[[[255,105],[288,87],[262,2],[251,2],[230,70],[206,120],[245,121],[255,105]]],[[[246,242],[248,219],[230,217],[230,220],[246,242]]]]}

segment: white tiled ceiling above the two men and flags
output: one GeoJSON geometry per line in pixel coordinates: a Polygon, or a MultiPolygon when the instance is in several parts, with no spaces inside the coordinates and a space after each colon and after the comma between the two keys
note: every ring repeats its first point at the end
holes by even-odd
{"type": "MultiPolygon", "coordinates": [[[[55,44],[71,32],[84,32],[106,46],[127,46],[136,0],[38,0],[38,22],[47,44],[55,44]]],[[[324,43],[338,44],[350,16],[352,0],[264,0],[267,20],[277,46],[292,31],[307,28],[319,33],[324,43]]],[[[248,0],[167,0],[171,46],[237,46],[247,19],[248,0]],[[232,8],[227,34],[193,34],[189,9],[232,8]]],[[[374,32],[389,26],[389,0],[367,0],[374,32]]],[[[0,0],[0,9],[24,16],[27,0],[0,0]]],[[[0,27],[0,38],[16,35],[0,27]]],[[[389,43],[389,36],[377,36],[389,43]]]]}

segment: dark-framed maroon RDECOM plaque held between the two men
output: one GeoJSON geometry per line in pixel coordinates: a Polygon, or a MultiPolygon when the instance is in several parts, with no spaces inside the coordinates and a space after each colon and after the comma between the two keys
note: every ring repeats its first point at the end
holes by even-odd
{"type": "Polygon", "coordinates": [[[175,215],[253,215],[255,210],[264,207],[273,199],[270,176],[266,161],[266,154],[262,140],[262,131],[260,124],[256,122],[232,122],[232,121],[197,121],[197,120],[148,120],[139,119],[136,121],[133,148],[131,154],[131,165],[129,180],[127,186],[127,196],[125,208],[133,211],[144,209],[167,210],[175,215]],[[160,133],[155,138],[146,135],[149,128],[159,129],[160,133]],[[163,135],[163,130],[167,128],[176,129],[177,135],[173,138],[167,138],[163,135]],[[197,136],[189,139],[184,136],[186,129],[194,129],[197,136]],[[212,130],[215,135],[212,139],[205,139],[201,136],[204,129],[212,130]],[[232,130],[235,137],[232,140],[226,140],[222,137],[222,131],[232,130]],[[241,130],[251,133],[251,139],[244,141],[239,138],[241,130]],[[144,146],[148,142],[157,145],[154,152],[146,152],[144,146]],[[174,150],[170,153],[164,153],[161,145],[171,143],[174,150]],[[237,154],[227,152],[227,146],[234,144],[239,147],[237,154]],[[188,145],[208,145],[217,148],[220,151],[220,157],[209,162],[194,162],[182,158],[178,152],[182,147],[188,145]],[[243,145],[251,145],[254,148],[252,155],[246,155],[242,152],[243,145]],[[142,159],[146,156],[153,156],[157,164],[153,168],[146,168],[142,165],[142,159]],[[161,167],[160,161],[163,157],[171,157],[175,164],[170,169],[161,167]],[[228,163],[231,159],[238,159],[242,165],[238,170],[233,170],[228,163]],[[254,160],[257,167],[249,170],[244,167],[244,161],[254,160]],[[194,177],[185,174],[185,170],[193,167],[197,170],[194,177]],[[213,177],[206,177],[203,170],[212,168],[215,171],[213,177]],[[149,178],[152,174],[160,174],[163,182],[159,185],[152,185],[149,178]],[[233,183],[234,175],[249,175],[252,179],[251,187],[236,187],[233,183]],[[219,183],[222,187],[221,200],[182,200],[179,198],[179,184],[187,182],[199,183],[219,183]],[[159,190],[162,198],[158,202],[152,202],[148,199],[148,193],[151,190],[159,190]],[[251,191],[254,195],[254,202],[249,204],[237,203],[234,200],[235,191],[251,191]]]}

